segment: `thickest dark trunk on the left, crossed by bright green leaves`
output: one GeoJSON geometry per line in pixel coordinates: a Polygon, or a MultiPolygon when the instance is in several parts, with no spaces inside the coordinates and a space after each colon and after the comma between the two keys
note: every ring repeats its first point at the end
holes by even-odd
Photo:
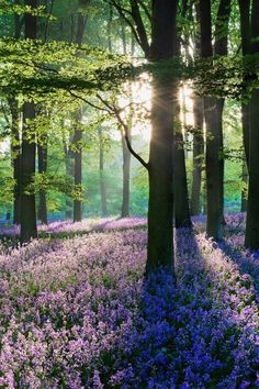
{"type": "MultiPolygon", "coordinates": [[[[32,9],[37,7],[37,0],[27,0],[26,5],[32,9]]],[[[37,31],[37,18],[25,13],[25,38],[35,40],[37,31]]],[[[23,104],[23,131],[22,131],[22,156],[21,156],[21,242],[29,242],[37,236],[35,190],[32,188],[35,176],[35,130],[27,125],[27,121],[35,119],[33,102],[23,104]],[[30,135],[30,136],[29,136],[30,135]]]]}

